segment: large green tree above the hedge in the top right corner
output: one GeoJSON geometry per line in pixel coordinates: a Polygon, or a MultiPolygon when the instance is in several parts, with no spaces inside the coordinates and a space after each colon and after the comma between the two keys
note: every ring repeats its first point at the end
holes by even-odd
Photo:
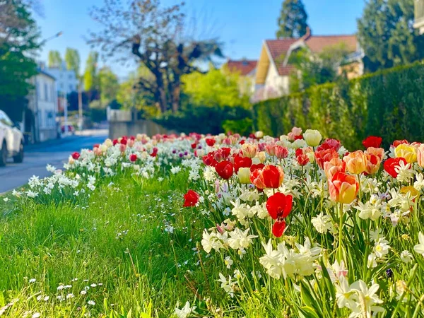
{"type": "Polygon", "coordinates": [[[358,19],[358,37],[369,71],[424,57],[424,36],[413,28],[413,1],[369,0],[358,19]]]}

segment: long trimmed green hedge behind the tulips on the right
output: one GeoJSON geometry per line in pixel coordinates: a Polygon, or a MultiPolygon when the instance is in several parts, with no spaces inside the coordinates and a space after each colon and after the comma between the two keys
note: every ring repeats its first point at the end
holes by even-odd
{"type": "Polygon", "coordinates": [[[287,134],[293,126],[319,129],[349,149],[370,135],[382,136],[384,146],[395,139],[424,141],[424,64],[265,100],[254,105],[253,119],[266,134],[287,134]]]}

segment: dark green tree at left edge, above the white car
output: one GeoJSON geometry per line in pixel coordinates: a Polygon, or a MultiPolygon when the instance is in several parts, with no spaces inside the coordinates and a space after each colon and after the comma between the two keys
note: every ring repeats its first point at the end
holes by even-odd
{"type": "Polygon", "coordinates": [[[26,96],[37,73],[35,52],[40,33],[26,1],[0,1],[0,108],[22,120],[26,96]]]}

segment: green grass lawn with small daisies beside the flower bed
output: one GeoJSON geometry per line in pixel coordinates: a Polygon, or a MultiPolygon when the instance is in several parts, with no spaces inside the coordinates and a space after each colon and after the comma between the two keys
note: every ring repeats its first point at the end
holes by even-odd
{"type": "MultiPolygon", "coordinates": [[[[11,195],[1,199],[0,307],[7,317],[172,317],[177,302],[187,301],[200,317],[221,317],[219,307],[231,304],[213,257],[196,250],[208,223],[182,208],[185,180],[182,172],[143,184],[122,178],[98,187],[86,204],[14,208],[11,195]]],[[[240,315],[228,310],[225,317],[240,315]]]]}

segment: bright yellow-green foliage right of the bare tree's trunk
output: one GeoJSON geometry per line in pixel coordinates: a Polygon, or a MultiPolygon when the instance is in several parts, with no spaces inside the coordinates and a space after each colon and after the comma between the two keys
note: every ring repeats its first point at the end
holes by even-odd
{"type": "Polygon", "coordinates": [[[193,105],[205,107],[249,108],[249,95],[241,94],[239,74],[213,69],[207,73],[194,72],[182,76],[183,91],[193,105]]]}

